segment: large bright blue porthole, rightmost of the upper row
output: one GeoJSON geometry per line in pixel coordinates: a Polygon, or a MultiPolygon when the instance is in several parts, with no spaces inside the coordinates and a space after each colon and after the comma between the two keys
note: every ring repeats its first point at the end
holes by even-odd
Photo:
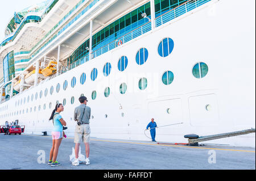
{"type": "Polygon", "coordinates": [[[174,49],[174,41],[170,38],[163,39],[158,46],[158,53],[161,57],[167,57],[174,49]]]}

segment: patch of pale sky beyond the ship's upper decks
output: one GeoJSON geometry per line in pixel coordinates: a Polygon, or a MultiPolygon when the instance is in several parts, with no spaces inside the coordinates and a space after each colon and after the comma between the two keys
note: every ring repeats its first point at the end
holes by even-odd
{"type": "Polygon", "coordinates": [[[14,16],[14,12],[25,9],[28,6],[43,2],[44,0],[0,0],[0,41],[5,38],[5,28],[14,16]]]}

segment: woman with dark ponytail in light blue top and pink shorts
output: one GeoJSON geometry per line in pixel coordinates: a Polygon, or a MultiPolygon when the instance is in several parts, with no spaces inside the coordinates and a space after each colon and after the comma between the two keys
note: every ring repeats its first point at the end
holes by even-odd
{"type": "Polygon", "coordinates": [[[50,151],[49,165],[51,166],[59,166],[60,163],[56,161],[59,146],[63,139],[63,126],[66,126],[67,123],[60,116],[60,112],[64,111],[64,107],[62,104],[56,104],[55,110],[52,111],[52,115],[49,120],[53,121],[53,131],[52,131],[52,149],[50,151]]]}

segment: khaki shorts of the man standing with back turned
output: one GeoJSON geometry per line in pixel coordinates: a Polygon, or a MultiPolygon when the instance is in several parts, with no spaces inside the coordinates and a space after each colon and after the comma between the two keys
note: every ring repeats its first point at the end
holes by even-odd
{"type": "Polygon", "coordinates": [[[89,124],[76,125],[75,129],[75,144],[80,144],[81,142],[90,141],[90,126],[89,124]]]}

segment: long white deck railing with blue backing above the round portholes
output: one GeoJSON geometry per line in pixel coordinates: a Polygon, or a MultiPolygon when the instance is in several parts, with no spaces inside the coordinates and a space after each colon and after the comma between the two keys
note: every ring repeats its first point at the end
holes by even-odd
{"type": "MultiPolygon", "coordinates": [[[[189,0],[189,1],[186,1],[186,2],[182,3],[181,5],[175,7],[174,9],[167,11],[166,13],[156,17],[155,18],[155,27],[159,27],[164,23],[170,22],[172,19],[175,19],[175,18],[185,14],[186,12],[196,9],[197,7],[204,5],[204,3],[207,3],[209,1],[212,1],[212,0],[189,0]]],[[[142,26],[136,28],[135,30],[132,30],[129,33],[126,33],[126,35],[123,35],[123,36],[119,37],[118,39],[115,39],[114,41],[110,42],[109,44],[103,45],[101,48],[94,50],[91,53],[91,58],[93,59],[98,56],[101,56],[101,54],[109,52],[109,50],[117,48],[120,45],[123,45],[123,44],[127,43],[128,41],[133,40],[148,31],[151,31],[151,20],[148,21],[147,23],[144,23],[142,26]]],[[[85,62],[88,62],[89,58],[90,58],[89,54],[86,54],[84,57],[80,58],[76,62],[73,62],[72,64],[60,69],[60,74],[63,74],[69,70],[76,68],[77,66],[84,64],[85,62]]]]}

